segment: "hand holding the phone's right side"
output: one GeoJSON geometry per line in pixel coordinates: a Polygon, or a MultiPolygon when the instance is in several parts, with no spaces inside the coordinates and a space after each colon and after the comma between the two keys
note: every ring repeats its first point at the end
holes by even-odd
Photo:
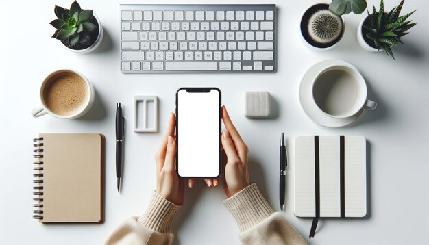
{"type": "Polygon", "coordinates": [[[225,106],[222,107],[222,119],[225,131],[222,133],[222,146],[228,158],[225,165],[225,194],[231,197],[250,185],[247,170],[249,150],[232,124],[225,106]]]}

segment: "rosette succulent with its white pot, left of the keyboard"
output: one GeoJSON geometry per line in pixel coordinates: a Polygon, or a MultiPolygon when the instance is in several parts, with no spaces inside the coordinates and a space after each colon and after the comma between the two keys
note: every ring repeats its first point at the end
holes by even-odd
{"type": "Polygon", "coordinates": [[[74,1],[69,9],[55,6],[57,19],[51,21],[56,28],[52,38],[56,38],[70,51],[90,53],[99,47],[103,40],[103,28],[93,10],[82,10],[74,1]]]}

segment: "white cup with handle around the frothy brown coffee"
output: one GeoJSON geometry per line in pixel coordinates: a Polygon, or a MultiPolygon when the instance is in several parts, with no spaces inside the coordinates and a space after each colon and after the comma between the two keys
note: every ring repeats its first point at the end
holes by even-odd
{"type": "Polygon", "coordinates": [[[44,116],[45,114],[51,114],[52,116],[55,116],[57,118],[62,118],[62,119],[79,118],[81,116],[84,116],[87,112],[90,111],[95,101],[95,91],[91,83],[89,83],[88,79],[86,79],[86,77],[82,75],[82,73],[79,73],[75,70],[65,70],[65,69],[56,70],[45,78],[45,80],[42,82],[42,85],[40,86],[39,96],[40,96],[40,101],[42,102],[42,105],[32,109],[32,116],[34,117],[44,116]],[[84,96],[82,105],[79,105],[79,108],[75,109],[73,113],[66,114],[66,115],[53,112],[52,109],[50,109],[47,106],[47,103],[45,101],[45,90],[48,88],[48,86],[51,85],[51,83],[53,83],[53,79],[55,79],[55,77],[58,77],[58,75],[62,75],[63,73],[64,74],[72,73],[73,75],[77,75],[77,77],[79,77],[82,81],[84,81],[86,86],[86,90],[85,90],[86,95],[84,96]]]}

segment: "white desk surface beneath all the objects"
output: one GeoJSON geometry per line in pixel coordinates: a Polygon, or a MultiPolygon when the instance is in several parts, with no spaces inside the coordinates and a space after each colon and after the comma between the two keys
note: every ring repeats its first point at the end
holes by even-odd
{"type": "MultiPolygon", "coordinates": [[[[125,1],[123,1],[125,3],[125,1]]],[[[151,3],[152,1],[140,1],[151,3]]],[[[231,3],[188,1],[180,3],[231,3]]],[[[345,16],[346,31],[339,46],[315,53],[299,39],[300,15],[314,1],[253,1],[278,6],[278,72],[269,74],[145,74],[119,71],[119,1],[79,3],[95,9],[105,38],[95,53],[66,51],[50,38],[53,5],[71,0],[2,1],[0,8],[0,240],[1,244],[101,244],[125,218],[145,211],[156,188],[154,153],[175,108],[175,91],[182,86],[217,86],[232,120],[247,142],[252,182],[275,210],[278,200],[280,132],[292,151],[295,136],[362,135],[369,142],[369,209],[367,218],[322,219],[315,239],[309,240],[311,220],[293,215],[293,164],[289,168],[286,211],[282,214],[310,244],[427,244],[429,230],[429,21],[427,1],[406,1],[403,13],[419,9],[417,25],[394,49],[396,60],[384,53],[367,53],[356,40],[364,15],[345,16]],[[369,99],[378,102],[350,126],[333,129],[312,123],[299,105],[299,82],[321,60],[341,59],[354,64],[367,79],[369,99]],[[42,79],[53,70],[79,70],[95,86],[93,110],[78,120],[51,116],[32,118],[42,79]],[[267,90],[275,101],[273,116],[254,120],[243,116],[244,93],[267,90]],[[159,132],[134,133],[133,96],[159,98],[159,132]],[[117,193],[114,163],[114,114],[123,103],[127,118],[123,191],[117,193]],[[104,224],[39,224],[32,219],[32,138],[38,133],[103,133],[106,135],[106,222],[104,224]]],[[[368,1],[369,6],[379,1],[368,1]]],[[[393,8],[400,0],[387,1],[393,8]]],[[[128,3],[128,1],[127,1],[128,3]]],[[[156,1],[179,3],[179,1],[156,1]]],[[[292,156],[289,157],[292,159],[292,156]]],[[[185,204],[174,222],[175,244],[239,244],[238,228],[223,206],[223,186],[208,189],[201,182],[186,189],[185,204]]]]}

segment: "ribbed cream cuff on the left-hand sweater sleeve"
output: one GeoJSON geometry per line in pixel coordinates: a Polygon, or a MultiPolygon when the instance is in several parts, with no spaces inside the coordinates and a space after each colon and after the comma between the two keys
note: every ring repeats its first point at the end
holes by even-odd
{"type": "Polygon", "coordinates": [[[154,231],[169,234],[171,233],[171,222],[180,207],[182,206],[171,203],[154,191],[149,208],[143,216],[138,218],[137,222],[154,231]]]}

